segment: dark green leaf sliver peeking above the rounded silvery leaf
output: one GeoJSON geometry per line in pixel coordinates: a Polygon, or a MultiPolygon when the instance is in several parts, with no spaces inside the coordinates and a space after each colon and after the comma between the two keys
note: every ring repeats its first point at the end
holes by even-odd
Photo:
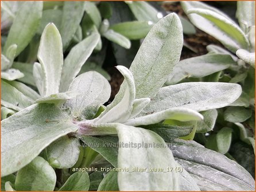
{"type": "Polygon", "coordinates": [[[88,71],[96,71],[99,74],[101,74],[104,78],[107,79],[107,81],[110,81],[111,77],[110,75],[107,73],[107,71],[105,71],[104,69],[102,69],[102,67],[100,65],[97,65],[95,62],[86,62],[81,70],[79,71],[78,75],[86,73],[88,71]]]}

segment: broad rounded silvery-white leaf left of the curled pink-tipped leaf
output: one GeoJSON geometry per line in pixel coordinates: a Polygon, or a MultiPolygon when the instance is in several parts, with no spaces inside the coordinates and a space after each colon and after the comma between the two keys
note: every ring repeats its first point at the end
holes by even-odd
{"type": "Polygon", "coordinates": [[[69,91],[80,93],[65,106],[70,107],[75,118],[92,119],[100,105],[108,101],[111,87],[107,79],[95,71],[88,71],[76,77],[69,91]]]}

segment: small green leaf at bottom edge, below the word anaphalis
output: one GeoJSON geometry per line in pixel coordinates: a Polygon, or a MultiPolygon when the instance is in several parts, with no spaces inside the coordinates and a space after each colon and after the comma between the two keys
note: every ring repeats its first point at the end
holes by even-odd
{"type": "Polygon", "coordinates": [[[90,179],[87,172],[73,173],[59,191],[88,191],[90,179]]]}

